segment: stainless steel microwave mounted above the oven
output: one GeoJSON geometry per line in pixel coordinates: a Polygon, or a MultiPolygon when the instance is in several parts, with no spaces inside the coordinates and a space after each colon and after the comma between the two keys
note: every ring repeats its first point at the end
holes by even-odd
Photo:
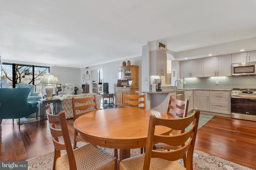
{"type": "Polygon", "coordinates": [[[232,76],[246,76],[256,74],[256,62],[232,64],[232,76]]]}

